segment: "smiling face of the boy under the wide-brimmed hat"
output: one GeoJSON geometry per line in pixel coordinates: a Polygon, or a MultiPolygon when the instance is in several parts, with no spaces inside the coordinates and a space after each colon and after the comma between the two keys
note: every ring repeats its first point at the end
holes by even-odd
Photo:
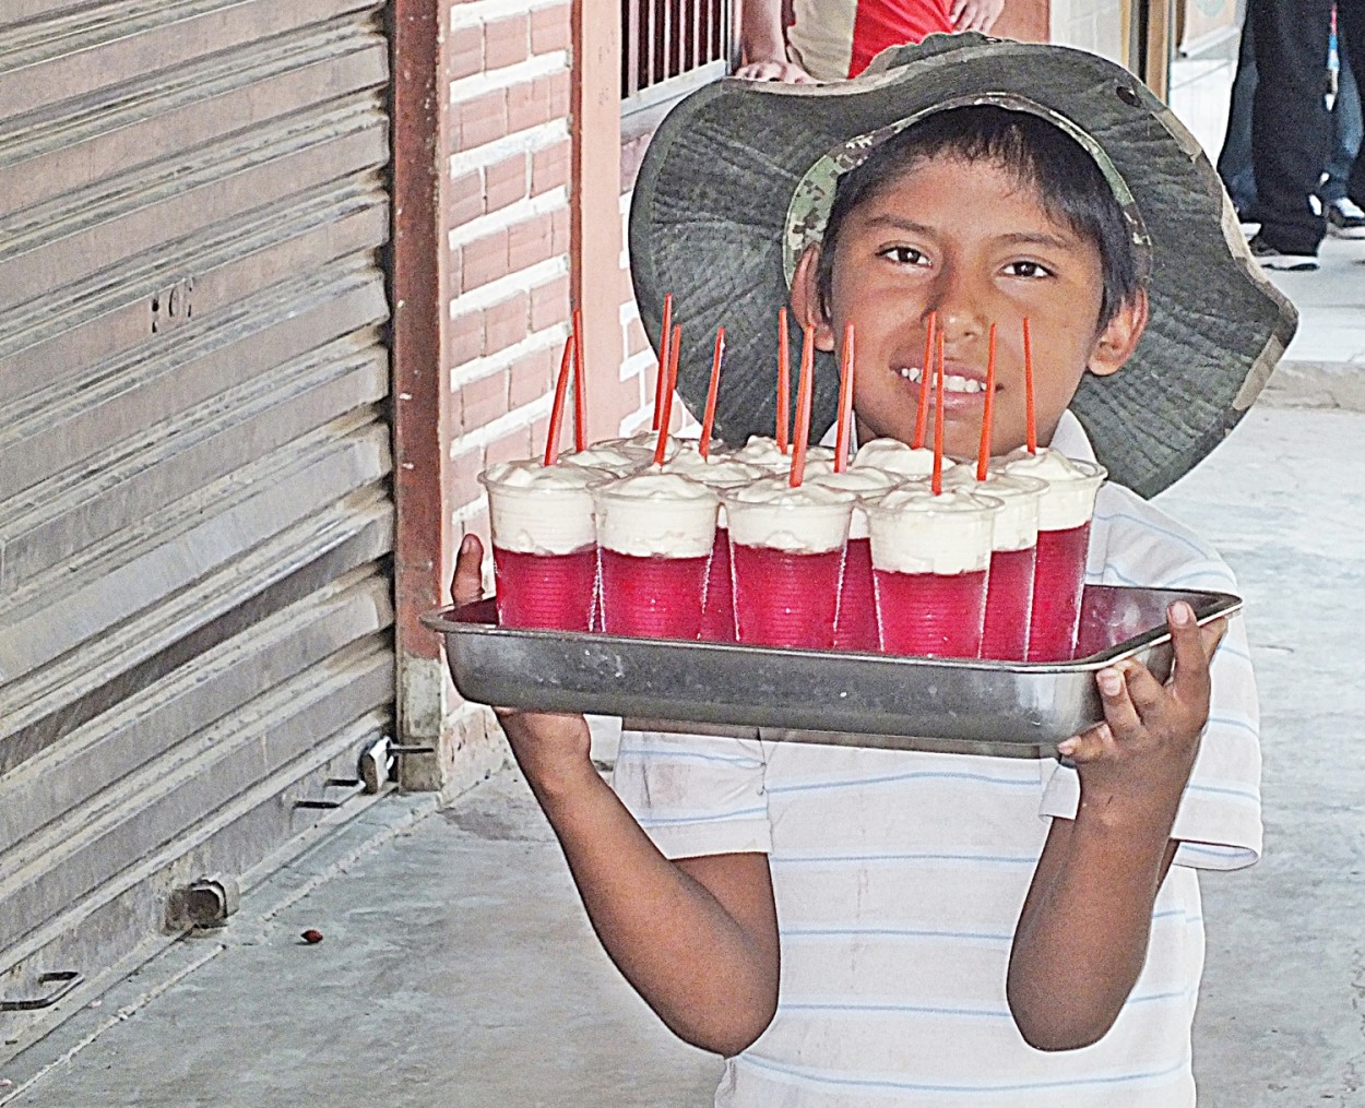
{"type": "Polygon", "coordinates": [[[996,325],[991,453],[1025,441],[1024,334],[1033,353],[1037,437],[1050,442],[1087,368],[1117,371],[1137,347],[1147,299],[1097,330],[1099,247],[1052,220],[1033,190],[991,162],[925,161],[848,214],[835,246],[830,318],[816,292],[818,250],[797,266],[792,303],[831,351],[853,323],[859,435],[909,442],[930,315],[943,334],[943,449],[975,456],[981,434],[991,323],[996,325]]]}

